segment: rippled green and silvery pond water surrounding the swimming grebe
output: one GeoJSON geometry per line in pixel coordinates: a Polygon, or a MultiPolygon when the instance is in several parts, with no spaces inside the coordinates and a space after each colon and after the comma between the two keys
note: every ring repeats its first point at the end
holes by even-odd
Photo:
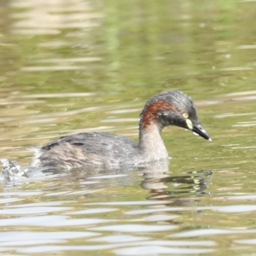
{"type": "Polygon", "coordinates": [[[255,1],[0,4],[1,158],[28,166],[79,131],[137,139],[170,89],[212,136],[166,128],[169,166],[2,172],[3,255],[255,254],[255,1]]]}

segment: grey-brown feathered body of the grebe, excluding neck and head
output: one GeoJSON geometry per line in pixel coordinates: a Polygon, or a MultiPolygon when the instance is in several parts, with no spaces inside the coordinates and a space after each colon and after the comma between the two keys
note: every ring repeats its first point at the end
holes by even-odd
{"type": "Polygon", "coordinates": [[[86,164],[132,164],[139,157],[138,153],[138,144],[127,137],[106,132],[84,132],[48,143],[40,148],[38,159],[40,166],[69,169],[86,164]]]}

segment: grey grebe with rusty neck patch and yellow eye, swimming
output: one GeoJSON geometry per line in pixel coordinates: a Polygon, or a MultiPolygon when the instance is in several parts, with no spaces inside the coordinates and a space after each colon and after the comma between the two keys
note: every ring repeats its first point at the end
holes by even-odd
{"type": "Polygon", "coordinates": [[[198,119],[194,102],[179,90],[151,97],[140,114],[139,143],[128,137],[107,132],[83,132],[60,137],[36,149],[32,166],[79,168],[88,165],[141,165],[168,159],[161,137],[167,125],[194,131],[211,141],[198,119]]]}

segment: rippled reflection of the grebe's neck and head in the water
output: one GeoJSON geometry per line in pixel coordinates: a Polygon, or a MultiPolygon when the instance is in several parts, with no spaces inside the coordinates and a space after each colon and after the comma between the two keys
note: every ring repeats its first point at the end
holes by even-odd
{"type": "MultiPolygon", "coordinates": [[[[191,201],[191,195],[195,195],[195,201],[201,195],[209,195],[207,188],[213,172],[210,170],[191,171],[181,176],[171,176],[168,162],[161,162],[157,165],[148,166],[143,172],[143,189],[148,189],[151,195],[148,200],[166,201],[172,200],[172,205],[187,205],[191,201]],[[188,200],[184,200],[184,197],[188,200]]],[[[192,200],[194,201],[194,200],[192,200]]]]}

